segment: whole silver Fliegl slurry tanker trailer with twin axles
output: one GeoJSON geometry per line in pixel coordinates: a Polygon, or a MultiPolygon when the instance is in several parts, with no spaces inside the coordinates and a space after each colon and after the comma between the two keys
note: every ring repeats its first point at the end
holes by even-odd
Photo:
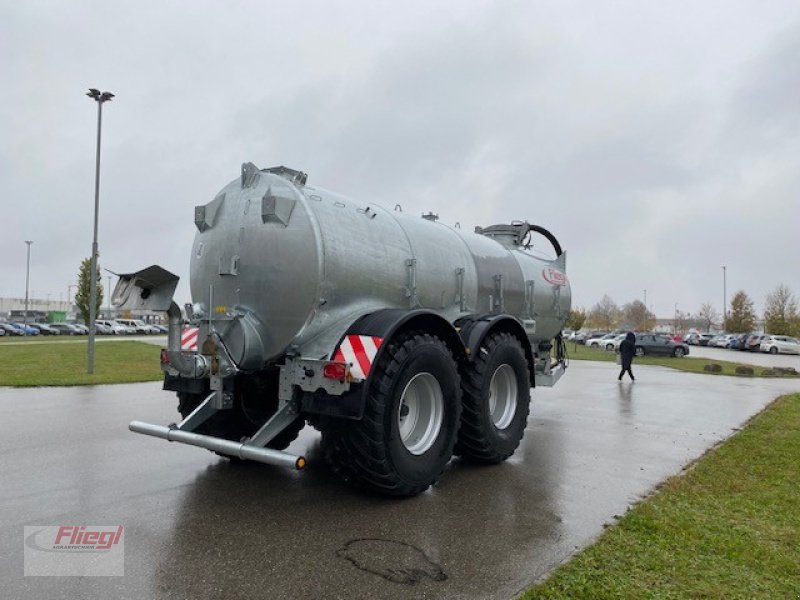
{"type": "Polygon", "coordinates": [[[194,223],[188,326],[159,266],[114,290],[120,309],[167,313],[164,389],[182,419],[131,431],[302,469],[285,450],[310,423],[346,480],[412,496],[453,455],[511,456],[531,388],[566,369],[566,254],[537,225],[466,232],[252,163],[194,223]],[[534,235],[554,258],[529,251],[534,235]]]}

